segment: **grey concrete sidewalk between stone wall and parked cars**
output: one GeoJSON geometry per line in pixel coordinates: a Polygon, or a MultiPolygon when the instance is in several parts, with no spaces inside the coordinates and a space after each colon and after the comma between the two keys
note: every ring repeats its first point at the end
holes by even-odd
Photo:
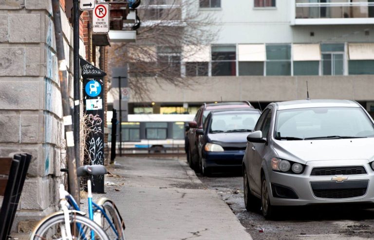
{"type": "Polygon", "coordinates": [[[251,239],[216,191],[205,189],[185,161],[116,160],[121,165],[108,170],[120,177],[106,177],[105,197],[121,212],[126,239],[251,239]]]}

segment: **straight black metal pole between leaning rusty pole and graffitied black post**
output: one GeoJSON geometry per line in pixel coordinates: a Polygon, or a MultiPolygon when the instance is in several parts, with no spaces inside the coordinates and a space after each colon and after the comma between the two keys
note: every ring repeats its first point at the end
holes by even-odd
{"type": "Polygon", "coordinates": [[[79,0],[73,0],[73,55],[74,55],[74,145],[76,166],[80,165],[80,76],[79,76],[79,0]]]}

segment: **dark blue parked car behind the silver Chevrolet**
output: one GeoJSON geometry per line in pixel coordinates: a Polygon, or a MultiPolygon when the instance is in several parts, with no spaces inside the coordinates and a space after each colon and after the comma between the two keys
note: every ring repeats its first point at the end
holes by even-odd
{"type": "Polygon", "coordinates": [[[260,117],[260,110],[211,111],[199,135],[199,166],[203,175],[217,168],[240,167],[247,142],[260,117]]]}

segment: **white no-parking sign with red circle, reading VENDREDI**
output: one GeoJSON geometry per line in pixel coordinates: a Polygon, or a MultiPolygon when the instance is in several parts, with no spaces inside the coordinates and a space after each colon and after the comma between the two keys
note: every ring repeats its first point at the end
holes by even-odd
{"type": "Polygon", "coordinates": [[[109,3],[98,3],[95,5],[92,15],[93,33],[109,32],[109,7],[109,3]]]}

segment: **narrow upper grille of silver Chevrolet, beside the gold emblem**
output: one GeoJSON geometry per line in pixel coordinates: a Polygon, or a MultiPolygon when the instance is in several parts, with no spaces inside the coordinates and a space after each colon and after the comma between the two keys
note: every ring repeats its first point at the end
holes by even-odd
{"type": "Polygon", "coordinates": [[[335,176],[335,175],[357,175],[367,174],[363,166],[348,167],[315,167],[310,176],[335,176]]]}

